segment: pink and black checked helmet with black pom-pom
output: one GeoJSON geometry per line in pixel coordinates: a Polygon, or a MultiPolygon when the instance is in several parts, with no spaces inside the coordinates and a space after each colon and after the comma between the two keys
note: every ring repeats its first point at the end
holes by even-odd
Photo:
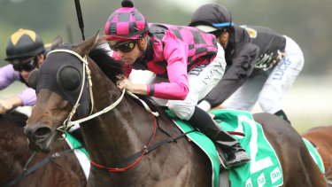
{"type": "Polygon", "coordinates": [[[130,0],[121,3],[122,8],[116,10],[108,18],[105,25],[105,40],[135,40],[146,35],[149,26],[143,14],[134,8],[130,0]]]}

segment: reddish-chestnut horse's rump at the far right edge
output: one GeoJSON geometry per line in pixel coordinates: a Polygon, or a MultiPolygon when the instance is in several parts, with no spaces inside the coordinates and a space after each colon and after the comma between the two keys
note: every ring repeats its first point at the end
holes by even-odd
{"type": "Polygon", "coordinates": [[[324,163],[325,176],[332,186],[332,126],[320,126],[308,129],[301,136],[309,140],[320,153],[324,163]]]}

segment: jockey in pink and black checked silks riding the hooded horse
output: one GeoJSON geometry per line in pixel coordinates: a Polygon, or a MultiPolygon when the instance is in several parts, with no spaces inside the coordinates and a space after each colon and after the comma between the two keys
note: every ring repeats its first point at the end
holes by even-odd
{"type": "Polygon", "coordinates": [[[216,124],[197,102],[220,81],[226,61],[224,51],[213,35],[195,27],[146,22],[130,0],[111,14],[105,25],[104,39],[118,58],[130,68],[154,73],[148,84],[130,82],[123,77],[120,90],[158,98],[180,119],[200,129],[228,153],[226,165],[250,161],[243,147],[216,124]]]}

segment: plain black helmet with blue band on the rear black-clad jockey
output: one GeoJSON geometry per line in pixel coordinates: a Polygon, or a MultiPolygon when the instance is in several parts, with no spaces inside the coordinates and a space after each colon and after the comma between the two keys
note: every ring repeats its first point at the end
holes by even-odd
{"type": "Polygon", "coordinates": [[[200,6],[191,19],[190,27],[197,27],[207,33],[233,27],[232,15],[225,6],[205,4],[200,6]]]}

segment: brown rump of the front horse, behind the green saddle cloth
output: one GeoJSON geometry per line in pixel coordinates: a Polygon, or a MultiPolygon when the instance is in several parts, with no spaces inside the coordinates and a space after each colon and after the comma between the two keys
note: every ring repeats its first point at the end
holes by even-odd
{"type": "Polygon", "coordinates": [[[288,122],[269,113],[256,113],[253,117],[262,125],[281,162],[284,186],[327,186],[302,137],[288,122]]]}

